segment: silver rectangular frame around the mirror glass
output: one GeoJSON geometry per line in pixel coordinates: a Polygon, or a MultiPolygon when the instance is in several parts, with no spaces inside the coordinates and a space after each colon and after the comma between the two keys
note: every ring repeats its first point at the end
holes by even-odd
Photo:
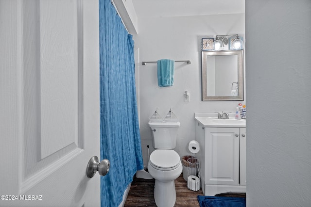
{"type": "Polygon", "coordinates": [[[244,100],[243,50],[202,51],[202,101],[242,101],[244,100]],[[238,55],[239,96],[207,96],[207,56],[238,55]]]}

